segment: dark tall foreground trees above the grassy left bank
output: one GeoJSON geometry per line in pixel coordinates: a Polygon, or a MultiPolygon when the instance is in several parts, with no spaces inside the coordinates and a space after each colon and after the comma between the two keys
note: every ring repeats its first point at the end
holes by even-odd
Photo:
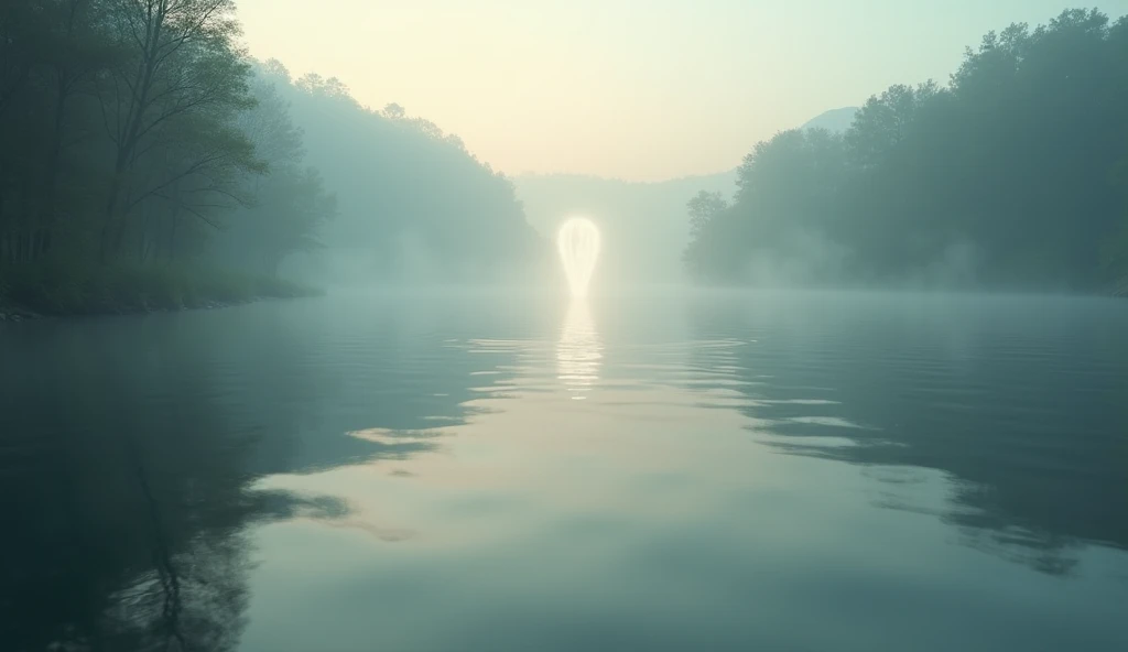
{"type": "Polygon", "coordinates": [[[191,259],[236,217],[255,222],[240,246],[258,271],[312,244],[333,197],[232,12],[231,0],[5,3],[3,262],[191,259]]]}

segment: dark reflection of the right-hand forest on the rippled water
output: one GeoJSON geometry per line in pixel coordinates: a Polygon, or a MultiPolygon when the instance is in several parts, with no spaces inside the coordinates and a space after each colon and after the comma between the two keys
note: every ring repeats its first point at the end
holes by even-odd
{"type": "Polygon", "coordinates": [[[770,446],[864,467],[893,509],[932,510],[908,490],[938,474],[964,545],[1069,574],[1089,543],[1128,549],[1128,350],[1113,302],[1048,301],[765,293],[693,323],[755,340],[698,362],[731,369],[770,446]]]}

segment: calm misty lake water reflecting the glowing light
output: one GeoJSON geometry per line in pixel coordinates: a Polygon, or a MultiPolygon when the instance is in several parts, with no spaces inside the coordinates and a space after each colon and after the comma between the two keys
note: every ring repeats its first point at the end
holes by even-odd
{"type": "Polygon", "coordinates": [[[1128,650],[1128,302],[0,325],[0,649],[1128,650]]]}

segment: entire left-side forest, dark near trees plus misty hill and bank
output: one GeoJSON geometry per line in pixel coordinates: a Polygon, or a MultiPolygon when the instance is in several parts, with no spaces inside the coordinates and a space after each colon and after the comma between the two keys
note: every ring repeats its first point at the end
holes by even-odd
{"type": "Polygon", "coordinates": [[[321,280],[340,258],[369,280],[421,259],[467,279],[540,246],[512,184],[457,136],[335,78],[291,79],[239,36],[232,0],[3,3],[0,301],[289,296],[309,290],[281,267],[321,280]]]}

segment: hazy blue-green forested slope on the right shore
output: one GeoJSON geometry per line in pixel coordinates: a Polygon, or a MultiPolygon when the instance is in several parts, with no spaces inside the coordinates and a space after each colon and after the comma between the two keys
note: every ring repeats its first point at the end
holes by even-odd
{"type": "Polygon", "coordinates": [[[684,254],[725,284],[1128,289],[1128,17],[987,34],[946,86],[758,143],[684,254]]]}

